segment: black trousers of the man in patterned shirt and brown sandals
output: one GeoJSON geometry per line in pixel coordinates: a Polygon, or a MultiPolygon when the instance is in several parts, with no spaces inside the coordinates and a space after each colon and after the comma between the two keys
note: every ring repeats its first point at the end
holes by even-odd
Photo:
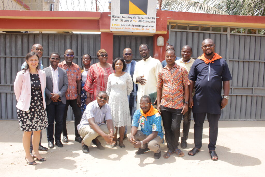
{"type": "Polygon", "coordinates": [[[180,124],[182,120],[182,109],[173,109],[160,106],[167,147],[174,152],[179,145],[180,124]]]}

